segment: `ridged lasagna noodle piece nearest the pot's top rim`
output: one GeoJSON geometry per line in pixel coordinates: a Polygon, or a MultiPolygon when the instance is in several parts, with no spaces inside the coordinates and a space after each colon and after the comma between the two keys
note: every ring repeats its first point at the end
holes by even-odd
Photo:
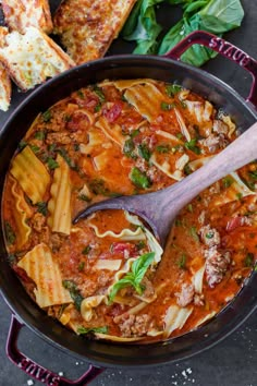
{"type": "Polygon", "coordinates": [[[135,85],[126,89],[124,96],[149,122],[156,120],[160,111],[161,102],[164,101],[164,96],[151,83],[135,85]]]}

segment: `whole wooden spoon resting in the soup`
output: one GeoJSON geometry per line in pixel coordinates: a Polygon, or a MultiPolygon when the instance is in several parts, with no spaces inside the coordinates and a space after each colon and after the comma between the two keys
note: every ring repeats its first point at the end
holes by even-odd
{"type": "Polygon", "coordinates": [[[73,220],[102,209],[124,209],[143,218],[164,246],[172,222],[179,212],[213,182],[257,158],[257,122],[208,164],[163,190],[138,195],[120,196],[88,206],[73,220]]]}

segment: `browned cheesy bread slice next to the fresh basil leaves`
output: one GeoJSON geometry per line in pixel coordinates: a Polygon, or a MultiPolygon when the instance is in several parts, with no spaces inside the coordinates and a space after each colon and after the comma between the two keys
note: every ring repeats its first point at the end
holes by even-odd
{"type": "Polygon", "coordinates": [[[137,0],[63,0],[53,17],[53,33],[81,64],[103,57],[137,0]]]}

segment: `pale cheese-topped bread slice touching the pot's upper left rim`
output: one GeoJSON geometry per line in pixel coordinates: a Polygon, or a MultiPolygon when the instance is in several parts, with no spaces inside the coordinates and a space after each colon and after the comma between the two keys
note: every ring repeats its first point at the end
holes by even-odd
{"type": "MultiPolygon", "coordinates": [[[[0,33],[1,35],[1,33],[0,33]]],[[[25,34],[16,31],[4,36],[0,46],[0,62],[22,89],[27,91],[72,68],[72,59],[45,33],[29,27],[25,34]]]]}

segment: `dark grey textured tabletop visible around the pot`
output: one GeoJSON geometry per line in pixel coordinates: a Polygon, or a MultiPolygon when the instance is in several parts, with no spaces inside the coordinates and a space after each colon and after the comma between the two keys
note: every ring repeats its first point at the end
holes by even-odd
{"type": "MultiPolygon", "coordinates": [[[[257,0],[242,1],[245,17],[240,29],[225,35],[225,38],[242,48],[248,55],[257,58],[257,0]]],[[[172,17],[171,17],[172,22],[172,17]]],[[[110,52],[121,50],[114,44],[110,52]]],[[[128,47],[125,48],[126,51],[128,47]]],[[[235,88],[241,95],[247,96],[250,76],[240,67],[218,57],[205,65],[205,70],[217,75],[235,88]]],[[[9,113],[24,98],[14,92],[14,100],[9,113]]],[[[8,119],[9,113],[0,112],[0,125],[8,119]]],[[[11,319],[11,312],[0,298],[0,386],[25,386],[29,377],[15,367],[7,358],[4,346],[11,319]]],[[[106,370],[91,386],[254,386],[257,385],[257,313],[255,312],[243,326],[215,348],[192,359],[159,366],[152,370],[106,370]]],[[[87,364],[62,353],[39,339],[27,328],[23,328],[19,347],[28,357],[38,361],[54,372],[62,372],[70,378],[77,378],[87,364]]],[[[28,383],[27,383],[28,382],[28,383]]],[[[34,382],[39,386],[40,383],[34,382]]]]}

